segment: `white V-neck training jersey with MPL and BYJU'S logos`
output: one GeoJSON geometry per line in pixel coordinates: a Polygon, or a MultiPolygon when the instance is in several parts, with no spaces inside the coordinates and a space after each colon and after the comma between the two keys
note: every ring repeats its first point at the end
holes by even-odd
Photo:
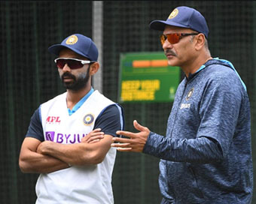
{"type": "MultiPolygon", "coordinates": [[[[66,93],[41,104],[44,139],[62,144],[81,142],[82,137],[93,130],[97,116],[111,104],[114,102],[98,91],[72,115],[66,107],[66,93]]],[[[116,149],[110,148],[102,163],[97,165],[71,166],[42,173],[35,187],[36,204],[114,203],[111,174],[115,156],[116,149]]]]}

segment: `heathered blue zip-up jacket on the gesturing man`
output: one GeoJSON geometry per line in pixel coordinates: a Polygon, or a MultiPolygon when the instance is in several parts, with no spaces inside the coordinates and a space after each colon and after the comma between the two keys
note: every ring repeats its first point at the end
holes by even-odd
{"type": "Polygon", "coordinates": [[[212,59],[178,86],[166,136],[143,152],[159,157],[165,203],[251,203],[250,104],[233,65],[212,59]]]}

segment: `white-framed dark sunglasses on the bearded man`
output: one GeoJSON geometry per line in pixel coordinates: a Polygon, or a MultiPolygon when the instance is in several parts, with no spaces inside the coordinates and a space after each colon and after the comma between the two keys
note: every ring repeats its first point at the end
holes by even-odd
{"type": "Polygon", "coordinates": [[[85,64],[90,64],[93,61],[81,60],[78,58],[56,58],[54,62],[57,68],[62,69],[67,64],[72,70],[82,68],[85,64]]]}

